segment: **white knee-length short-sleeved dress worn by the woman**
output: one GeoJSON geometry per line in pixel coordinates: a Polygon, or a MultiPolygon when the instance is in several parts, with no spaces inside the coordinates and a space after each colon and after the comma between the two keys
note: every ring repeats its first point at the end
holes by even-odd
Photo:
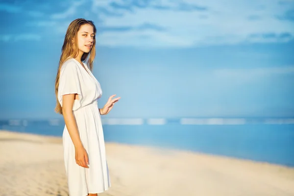
{"type": "Polygon", "coordinates": [[[86,70],[74,58],[68,59],[61,67],[58,101],[62,96],[78,94],[73,103],[79,135],[89,157],[89,168],[75,163],[73,141],[65,125],[63,130],[64,163],[68,177],[70,196],[87,196],[88,193],[102,193],[111,186],[105,154],[105,143],[98,109],[98,98],[102,95],[99,82],[84,63],[86,70]]]}

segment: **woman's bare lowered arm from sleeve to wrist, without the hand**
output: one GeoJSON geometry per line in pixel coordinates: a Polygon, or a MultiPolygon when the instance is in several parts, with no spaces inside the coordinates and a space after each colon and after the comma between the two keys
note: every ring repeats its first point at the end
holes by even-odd
{"type": "Polygon", "coordinates": [[[76,121],[73,116],[73,102],[75,94],[68,94],[62,96],[62,114],[64,122],[72,138],[74,147],[81,147],[82,142],[79,137],[76,121]]]}

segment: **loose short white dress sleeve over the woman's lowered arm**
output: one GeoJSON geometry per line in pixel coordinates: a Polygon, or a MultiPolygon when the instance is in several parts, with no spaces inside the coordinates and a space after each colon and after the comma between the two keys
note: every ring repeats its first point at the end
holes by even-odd
{"type": "Polygon", "coordinates": [[[68,94],[78,94],[79,99],[73,102],[73,111],[81,107],[83,100],[80,79],[76,64],[73,62],[65,63],[60,70],[59,86],[58,86],[58,101],[62,107],[62,96],[68,94]]]}

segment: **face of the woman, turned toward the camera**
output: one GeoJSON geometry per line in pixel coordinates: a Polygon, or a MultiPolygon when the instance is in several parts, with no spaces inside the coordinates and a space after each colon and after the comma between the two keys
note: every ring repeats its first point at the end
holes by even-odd
{"type": "Polygon", "coordinates": [[[77,43],[79,52],[88,53],[94,44],[95,34],[92,25],[81,25],[77,32],[77,43]]]}

